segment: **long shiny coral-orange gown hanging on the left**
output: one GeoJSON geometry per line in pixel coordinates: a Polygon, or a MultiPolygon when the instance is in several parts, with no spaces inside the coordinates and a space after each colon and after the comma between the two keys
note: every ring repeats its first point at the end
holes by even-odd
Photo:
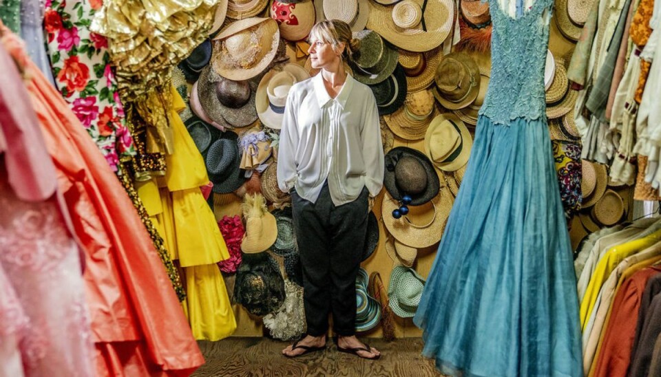
{"type": "MultiPolygon", "coordinates": [[[[123,367],[119,375],[126,376],[134,376],[132,370],[189,373],[204,358],[132,202],[61,94],[25,58],[18,37],[6,28],[1,32],[8,52],[25,62],[25,86],[87,253],[92,331],[97,349],[107,350],[99,355],[108,358],[97,365],[123,367]],[[127,349],[127,343],[112,343],[129,340],[138,345],[127,349]]],[[[97,372],[116,373],[107,367],[97,372]]]]}

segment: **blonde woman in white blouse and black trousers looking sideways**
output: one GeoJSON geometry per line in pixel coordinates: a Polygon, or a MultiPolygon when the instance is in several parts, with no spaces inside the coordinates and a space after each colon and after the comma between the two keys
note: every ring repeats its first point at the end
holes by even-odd
{"type": "Polygon", "coordinates": [[[371,89],[344,71],[358,41],[338,20],[310,32],[312,67],[291,87],[277,156],[277,182],[292,197],[303,266],[308,334],[282,351],[293,357],[326,347],[328,313],[341,352],[378,358],[355,336],[355,281],[373,197],[381,191],[384,151],[371,89]]]}

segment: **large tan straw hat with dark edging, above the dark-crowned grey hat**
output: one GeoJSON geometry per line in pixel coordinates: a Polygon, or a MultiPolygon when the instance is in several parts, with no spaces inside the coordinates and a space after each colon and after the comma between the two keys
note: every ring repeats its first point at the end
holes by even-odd
{"type": "Polygon", "coordinates": [[[230,23],[213,38],[213,70],[230,80],[247,80],[271,64],[280,30],[271,18],[251,17],[230,23]]]}

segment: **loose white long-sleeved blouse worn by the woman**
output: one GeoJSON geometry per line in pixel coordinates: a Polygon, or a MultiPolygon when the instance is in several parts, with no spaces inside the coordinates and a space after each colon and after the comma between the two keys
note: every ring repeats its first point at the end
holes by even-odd
{"type": "Polygon", "coordinates": [[[372,90],[350,75],[330,98],[322,74],[291,87],[277,150],[277,184],[316,202],[328,179],[333,204],[355,200],[364,186],[376,196],[384,149],[372,90]]]}

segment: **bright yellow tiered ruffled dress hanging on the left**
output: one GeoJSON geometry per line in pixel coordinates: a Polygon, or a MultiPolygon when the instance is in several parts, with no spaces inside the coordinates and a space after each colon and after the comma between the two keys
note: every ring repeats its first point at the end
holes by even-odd
{"type": "Polygon", "coordinates": [[[174,153],[166,158],[167,174],[158,182],[136,185],[170,257],[179,259],[185,272],[187,300],[182,305],[193,336],[218,341],[236,329],[227,288],[216,265],[229,258],[229,252],[200,191],[209,177],[202,155],[178,115],[185,103],[174,87],[171,96],[174,101],[168,120],[174,132],[174,153]]]}

